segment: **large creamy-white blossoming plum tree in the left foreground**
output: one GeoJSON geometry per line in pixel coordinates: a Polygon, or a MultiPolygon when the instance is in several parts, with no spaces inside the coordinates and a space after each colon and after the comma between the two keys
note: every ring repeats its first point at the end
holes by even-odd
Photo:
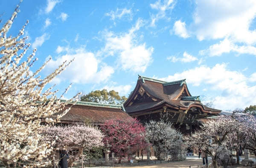
{"type": "Polygon", "coordinates": [[[47,127],[47,122],[65,115],[69,109],[63,113],[60,111],[66,104],[75,103],[71,100],[61,102],[55,95],[58,90],[52,91],[53,87],[45,89],[45,86],[70,62],[64,62],[45,78],[38,73],[47,62],[31,73],[29,68],[37,60],[34,58],[36,49],[25,59],[30,44],[25,42],[27,37],[22,37],[28,21],[17,36],[7,35],[18,8],[0,28],[0,162],[7,167],[10,164],[44,167],[49,162],[45,158],[52,151],[52,142],[40,141],[41,129],[47,127]],[[51,119],[56,112],[59,115],[51,119]],[[42,125],[42,121],[46,124],[42,125]]]}

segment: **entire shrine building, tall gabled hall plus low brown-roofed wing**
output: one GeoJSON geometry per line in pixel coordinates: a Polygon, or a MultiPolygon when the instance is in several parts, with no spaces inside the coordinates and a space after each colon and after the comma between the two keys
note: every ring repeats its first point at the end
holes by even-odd
{"type": "Polygon", "coordinates": [[[131,117],[138,118],[142,123],[164,120],[172,122],[181,133],[187,134],[220,112],[202,104],[199,96],[192,96],[185,79],[166,82],[139,76],[135,89],[123,105],[79,101],[60,121],[66,124],[90,121],[94,125],[102,125],[109,119],[131,117]]]}

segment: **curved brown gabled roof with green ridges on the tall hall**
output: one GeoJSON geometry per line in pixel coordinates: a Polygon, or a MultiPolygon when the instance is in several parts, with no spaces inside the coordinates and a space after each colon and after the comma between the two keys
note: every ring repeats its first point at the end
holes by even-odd
{"type": "Polygon", "coordinates": [[[139,80],[137,81],[136,88],[131,93],[130,97],[125,102],[124,106],[125,106],[125,111],[128,113],[138,112],[145,109],[151,109],[155,106],[160,106],[161,104],[169,104],[173,106],[173,108],[175,109],[179,109],[179,108],[188,109],[194,105],[194,106],[201,107],[203,111],[207,111],[207,112],[221,111],[218,109],[212,109],[207,106],[204,106],[203,104],[201,104],[200,101],[197,100],[198,97],[199,96],[191,96],[191,94],[189,93],[189,90],[187,89],[185,79],[180,81],[165,82],[165,81],[160,81],[153,78],[139,76],[139,80]],[[156,98],[157,101],[151,102],[151,103],[145,103],[145,104],[132,104],[128,106],[128,104],[130,104],[130,101],[132,101],[132,99],[136,95],[136,90],[138,90],[140,86],[143,87],[145,92],[147,92],[149,95],[156,98]],[[184,96],[181,95],[183,90],[187,93],[184,96]],[[179,96],[181,96],[182,101],[180,100],[180,98],[178,98],[179,96]],[[184,101],[186,102],[184,103],[184,101]]]}

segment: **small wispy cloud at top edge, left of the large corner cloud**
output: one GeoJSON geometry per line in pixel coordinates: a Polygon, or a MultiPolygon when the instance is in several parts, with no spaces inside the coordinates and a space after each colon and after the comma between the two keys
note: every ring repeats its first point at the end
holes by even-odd
{"type": "Polygon", "coordinates": [[[174,0],[157,0],[155,3],[150,4],[152,9],[156,9],[158,12],[157,14],[151,14],[151,26],[155,26],[155,22],[157,20],[163,19],[166,17],[166,11],[172,10],[175,6],[174,0]]]}

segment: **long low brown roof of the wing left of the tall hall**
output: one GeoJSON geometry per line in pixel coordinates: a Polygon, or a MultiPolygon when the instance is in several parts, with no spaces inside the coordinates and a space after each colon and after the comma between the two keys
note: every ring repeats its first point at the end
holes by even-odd
{"type": "MultiPolygon", "coordinates": [[[[65,109],[70,106],[69,104],[65,109]]],[[[79,102],[79,104],[73,105],[70,111],[60,120],[66,123],[90,121],[101,124],[110,119],[125,120],[131,118],[126,112],[122,111],[122,106],[111,106],[86,102],[83,104],[79,102]]]]}

